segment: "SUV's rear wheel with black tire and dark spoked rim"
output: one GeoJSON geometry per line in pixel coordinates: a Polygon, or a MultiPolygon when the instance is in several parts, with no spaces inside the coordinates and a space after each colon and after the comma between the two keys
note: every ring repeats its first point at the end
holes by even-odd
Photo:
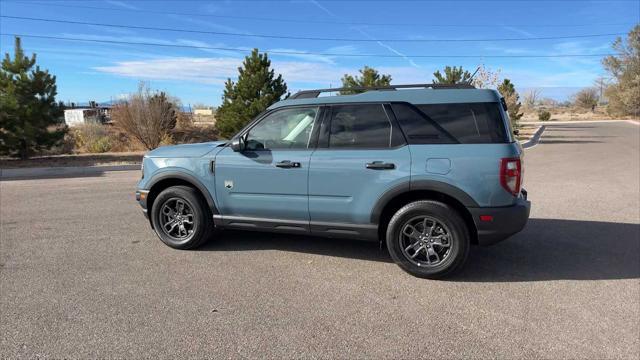
{"type": "Polygon", "coordinates": [[[389,221],[386,237],[395,263],[421,278],[449,276],[462,267],[469,254],[469,231],[464,220],[453,208],[438,201],[416,201],[402,207],[389,221]],[[438,235],[432,237],[433,234],[438,235]]]}

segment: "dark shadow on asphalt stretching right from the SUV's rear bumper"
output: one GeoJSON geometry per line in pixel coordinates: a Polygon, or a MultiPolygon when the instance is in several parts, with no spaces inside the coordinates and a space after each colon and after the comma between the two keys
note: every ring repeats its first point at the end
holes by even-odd
{"type": "Polygon", "coordinates": [[[640,278],[640,224],[530,219],[511,239],[474,247],[459,281],[640,278]]]}

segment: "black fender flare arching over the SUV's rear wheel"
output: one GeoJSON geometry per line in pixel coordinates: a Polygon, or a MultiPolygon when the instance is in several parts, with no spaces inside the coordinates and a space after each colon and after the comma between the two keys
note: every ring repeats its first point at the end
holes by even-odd
{"type": "Polygon", "coordinates": [[[395,197],[400,196],[404,193],[408,193],[410,191],[416,190],[428,190],[439,192],[445,194],[458,202],[464,205],[467,208],[479,207],[478,203],[473,200],[471,196],[469,196],[466,192],[461,189],[447,184],[442,181],[437,180],[415,180],[411,182],[404,182],[394,186],[393,188],[387,190],[373,207],[371,212],[371,223],[378,224],[380,221],[380,217],[382,216],[382,211],[387,206],[387,204],[393,200],[395,197]]]}

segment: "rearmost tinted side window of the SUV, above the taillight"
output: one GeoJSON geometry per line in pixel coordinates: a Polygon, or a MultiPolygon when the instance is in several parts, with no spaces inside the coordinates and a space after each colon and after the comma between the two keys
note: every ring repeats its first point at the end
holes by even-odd
{"type": "Polygon", "coordinates": [[[508,141],[499,103],[417,105],[463,144],[508,141]]]}

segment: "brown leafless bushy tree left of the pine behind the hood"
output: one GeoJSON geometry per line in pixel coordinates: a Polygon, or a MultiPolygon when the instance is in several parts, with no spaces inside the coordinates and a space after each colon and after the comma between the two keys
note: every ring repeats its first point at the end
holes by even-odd
{"type": "Polygon", "coordinates": [[[141,83],[135,94],[114,107],[112,119],[127,135],[151,150],[176,126],[177,112],[165,93],[153,93],[141,83]]]}

